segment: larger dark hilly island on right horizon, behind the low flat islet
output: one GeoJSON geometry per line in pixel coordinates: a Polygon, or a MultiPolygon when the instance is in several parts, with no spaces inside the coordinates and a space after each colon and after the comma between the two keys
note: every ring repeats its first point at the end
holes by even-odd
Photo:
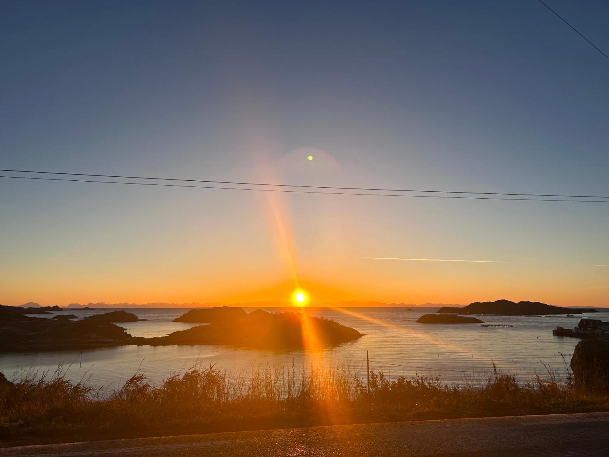
{"type": "Polygon", "coordinates": [[[496,300],[495,302],[474,302],[462,308],[442,306],[440,314],[499,314],[502,316],[539,316],[541,314],[580,314],[597,313],[594,308],[563,308],[563,306],[546,305],[540,302],[511,302],[496,300]]]}

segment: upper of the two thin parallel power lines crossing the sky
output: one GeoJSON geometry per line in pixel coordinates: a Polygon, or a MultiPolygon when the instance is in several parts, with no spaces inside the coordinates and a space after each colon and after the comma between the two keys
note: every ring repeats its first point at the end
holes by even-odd
{"type": "MultiPolygon", "coordinates": [[[[228,185],[240,185],[240,186],[300,187],[300,188],[308,188],[308,189],[329,189],[329,190],[350,190],[350,191],[356,190],[356,191],[368,191],[368,192],[424,192],[424,193],[437,193],[437,194],[510,195],[510,196],[521,196],[521,197],[569,197],[569,198],[579,198],[579,199],[581,199],[581,198],[609,199],[609,196],[600,196],[600,195],[518,194],[518,193],[507,193],[507,192],[471,192],[471,191],[440,191],[440,190],[423,190],[423,189],[382,189],[382,188],[371,188],[371,187],[307,186],[307,185],[300,185],[300,184],[275,184],[275,183],[256,183],[256,182],[239,182],[239,181],[216,181],[216,180],[205,180],[205,179],[181,179],[181,178],[161,178],[161,177],[150,177],[150,176],[69,173],[69,172],[58,172],[58,171],[13,170],[13,169],[2,169],[2,168],[0,168],[0,171],[10,171],[10,172],[15,172],[15,173],[69,175],[69,176],[91,176],[91,177],[100,177],[100,178],[200,182],[200,183],[228,184],[228,185]]],[[[14,176],[10,176],[10,177],[14,177],[14,176]]],[[[105,182],[108,182],[108,181],[105,181],[105,182]]],[[[220,188],[220,187],[205,187],[205,186],[200,186],[200,187],[210,188],[210,189],[219,189],[220,188]]],[[[225,189],[225,188],[222,187],[222,189],[225,189]]],[[[230,188],[230,189],[233,189],[233,188],[230,188]]],[[[252,189],[252,190],[254,190],[254,189],[252,189]]],[[[378,195],[378,194],[375,194],[375,195],[378,195]]],[[[521,200],[521,199],[518,199],[518,200],[521,200]]],[[[548,200],[548,201],[551,201],[551,200],[548,200]]],[[[563,201],[563,200],[558,200],[558,201],[563,201]]],[[[571,202],[574,200],[566,200],[566,201],[571,202]]]]}

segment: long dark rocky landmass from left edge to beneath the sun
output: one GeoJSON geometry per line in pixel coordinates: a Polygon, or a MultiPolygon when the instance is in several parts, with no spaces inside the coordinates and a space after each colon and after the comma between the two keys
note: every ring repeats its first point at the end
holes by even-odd
{"type": "MultiPolygon", "coordinates": [[[[116,345],[224,344],[246,349],[300,349],[309,341],[327,347],[361,338],[359,331],[303,313],[269,313],[222,306],[198,319],[210,321],[160,338],[134,337],[115,322],[142,321],[127,311],[111,311],[78,321],[26,316],[23,308],[0,305],[0,352],[80,350],[116,345]]],[[[189,313],[186,313],[189,314],[189,313]]],[[[186,315],[185,314],[185,315],[186,315]]],[[[189,319],[195,315],[189,314],[189,319]]],[[[189,321],[192,322],[192,321],[189,321]]]]}

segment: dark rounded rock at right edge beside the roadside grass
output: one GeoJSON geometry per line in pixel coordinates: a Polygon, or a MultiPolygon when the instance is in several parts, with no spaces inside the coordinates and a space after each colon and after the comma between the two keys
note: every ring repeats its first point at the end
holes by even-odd
{"type": "Polygon", "coordinates": [[[577,386],[609,392],[609,340],[585,339],[577,343],[571,371],[577,386]]]}

